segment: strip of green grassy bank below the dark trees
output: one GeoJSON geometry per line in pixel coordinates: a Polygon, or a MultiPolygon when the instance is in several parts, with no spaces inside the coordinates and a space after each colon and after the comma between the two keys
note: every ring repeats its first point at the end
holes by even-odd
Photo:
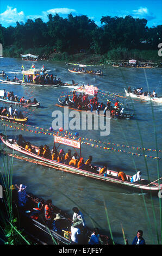
{"type": "Polygon", "coordinates": [[[108,61],[119,62],[127,61],[129,59],[136,59],[140,62],[154,62],[160,63],[162,58],[158,56],[158,50],[128,50],[127,48],[116,48],[107,53],[95,54],[88,51],[70,54],[67,52],[54,52],[52,47],[29,48],[23,50],[17,49],[15,46],[6,47],[3,50],[4,57],[20,58],[20,54],[34,54],[39,55],[40,59],[52,61],[65,61],[82,64],[108,64],[108,61]]]}

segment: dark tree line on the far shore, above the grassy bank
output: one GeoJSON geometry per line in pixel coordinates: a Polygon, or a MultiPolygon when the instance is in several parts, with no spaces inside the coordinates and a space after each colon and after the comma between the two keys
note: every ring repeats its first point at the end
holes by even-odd
{"type": "MultiPolygon", "coordinates": [[[[74,54],[91,52],[105,54],[115,48],[128,50],[157,50],[161,42],[162,25],[148,28],[146,19],[132,16],[102,16],[101,26],[86,15],[67,18],[59,14],[48,15],[48,21],[41,18],[26,23],[16,22],[7,28],[0,25],[0,42],[3,48],[14,47],[22,54],[32,48],[55,48],[57,52],[74,54]]],[[[35,52],[36,54],[36,52],[35,52]]]]}

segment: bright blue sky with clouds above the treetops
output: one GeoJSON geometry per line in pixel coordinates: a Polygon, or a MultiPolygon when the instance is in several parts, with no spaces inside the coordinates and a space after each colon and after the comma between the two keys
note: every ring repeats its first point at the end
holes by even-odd
{"type": "Polygon", "coordinates": [[[48,14],[58,13],[67,17],[72,13],[76,15],[87,15],[96,24],[100,25],[102,16],[126,15],[134,18],[147,19],[147,26],[161,25],[162,1],[161,0],[1,0],[0,23],[4,27],[15,26],[16,21],[26,22],[27,19],[41,17],[47,22],[48,14]]]}

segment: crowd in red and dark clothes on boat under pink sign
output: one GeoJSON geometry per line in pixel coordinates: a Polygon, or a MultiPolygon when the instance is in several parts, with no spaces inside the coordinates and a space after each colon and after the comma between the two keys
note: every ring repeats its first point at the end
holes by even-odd
{"type": "Polygon", "coordinates": [[[111,101],[107,100],[107,103],[99,102],[97,95],[94,95],[91,99],[89,99],[89,95],[85,93],[80,93],[79,95],[76,94],[76,90],[73,91],[72,100],[69,96],[65,97],[64,102],[62,105],[73,106],[79,110],[91,112],[96,111],[99,114],[100,111],[103,111],[103,114],[106,115],[107,111],[110,111],[110,116],[115,117],[116,115],[122,114],[124,108],[121,109],[119,100],[116,100],[114,106],[111,106],[111,101]]]}

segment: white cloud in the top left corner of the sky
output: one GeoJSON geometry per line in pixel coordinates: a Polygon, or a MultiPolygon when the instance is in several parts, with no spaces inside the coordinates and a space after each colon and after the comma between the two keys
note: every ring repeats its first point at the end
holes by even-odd
{"type": "Polygon", "coordinates": [[[4,11],[4,13],[0,14],[0,20],[1,23],[7,23],[8,25],[11,25],[13,23],[16,23],[16,21],[24,21],[25,15],[23,11],[20,11],[20,13],[17,12],[17,8],[12,9],[13,7],[7,7],[7,10],[4,11]]]}

